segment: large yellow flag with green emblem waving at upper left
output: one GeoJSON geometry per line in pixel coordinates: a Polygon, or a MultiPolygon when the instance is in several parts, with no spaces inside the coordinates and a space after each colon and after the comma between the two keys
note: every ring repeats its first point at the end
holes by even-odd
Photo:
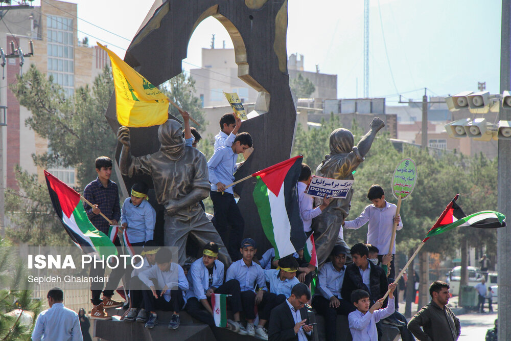
{"type": "Polygon", "coordinates": [[[169,100],[124,60],[97,42],[112,62],[117,120],[127,127],[150,127],[169,118],[169,100]]]}

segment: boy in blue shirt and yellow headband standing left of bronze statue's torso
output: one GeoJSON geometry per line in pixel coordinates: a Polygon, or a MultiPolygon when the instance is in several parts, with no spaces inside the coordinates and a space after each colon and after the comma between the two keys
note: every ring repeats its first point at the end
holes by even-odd
{"type": "Polygon", "coordinates": [[[131,197],[123,203],[121,225],[126,229],[131,246],[144,246],[153,239],[156,211],[147,201],[148,192],[146,184],[137,182],[131,187],[131,197]]]}

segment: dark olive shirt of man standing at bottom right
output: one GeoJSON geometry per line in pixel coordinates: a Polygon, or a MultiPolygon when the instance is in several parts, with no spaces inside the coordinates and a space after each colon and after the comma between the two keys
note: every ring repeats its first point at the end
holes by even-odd
{"type": "Polygon", "coordinates": [[[408,330],[421,341],[456,341],[461,326],[451,309],[431,301],[411,318],[408,330]]]}

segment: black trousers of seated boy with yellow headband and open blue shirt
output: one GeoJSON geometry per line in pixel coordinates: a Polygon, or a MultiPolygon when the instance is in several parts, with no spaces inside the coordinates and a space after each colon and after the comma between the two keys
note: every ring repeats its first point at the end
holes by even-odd
{"type": "MultiPolygon", "coordinates": [[[[240,282],[238,282],[238,280],[230,280],[225,282],[215,290],[215,293],[224,293],[230,295],[227,297],[227,305],[230,305],[230,309],[234,313],[243,310],[241,305],[240,282]]],[[[207,302],[211,304],[211,298],[208,298],[207,302]]],[[[210,314],[206,308],[204,308],[202,303],[196,297],[190,298],[187,301],[185,308],[190,316],[210,327],[215,327],[215,320],[213,319],[213,315],[210,314]]]]}

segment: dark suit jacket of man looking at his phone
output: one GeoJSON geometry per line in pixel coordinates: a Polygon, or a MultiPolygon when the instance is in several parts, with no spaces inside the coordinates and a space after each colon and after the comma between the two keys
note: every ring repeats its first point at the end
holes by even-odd
{"type": "MultiPolygon", "coordinates": [[[[305,307],[300,309],[300,314],[301,320],[307,319],[306,323],[308,324],[309,317],[307,316],[307,309],[305,307]]],[[[298,340],[298,335],[296,335],[293,330],[296,323],[294,322],[291,309],[289,309],[287,302],[283,302],[271,310],[269,324],[269,341],[298,340]]]]}

